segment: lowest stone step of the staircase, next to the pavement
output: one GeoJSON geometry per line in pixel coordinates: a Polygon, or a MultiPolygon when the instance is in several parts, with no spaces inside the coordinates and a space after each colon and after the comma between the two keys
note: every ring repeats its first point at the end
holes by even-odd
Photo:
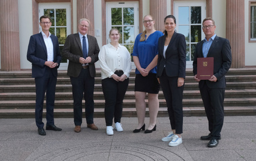
{"type": "MultiPolygon", "coordinates": [[[[225,106],[225,116],[254,116],[256,115],[255,106],[225,106]]],[[[85,109],[83,109],[85,113],[85,109]]],[[[43,110],[45,118],[46,110],[43,110]]],[[[183,108],[184,117],[205,116],[205,110],[202,107],[183,108]]],[[[84,116],[84,115],[83,115],[84,116]]],[[[94,109],[94,117],[104,117],[104,109],[94,109]]],[[[122,110],[122,117],[137,117],[135,108],[125,108],[122,110]]],[[[146,108],[146,117],[149,117],[149,110],[146,108]]],[[[167,108],[159,108],[157,117],[168,117],[167,108]]],[[[24,119],[34,118],[34,109],[0,109],[0,118],[2,119],[24,119]]],[[[73,118],[73,109],[54,109],[54,118],[73,118]]],[[[84,119],[84,117],[83,117],[84,119]]]]}

